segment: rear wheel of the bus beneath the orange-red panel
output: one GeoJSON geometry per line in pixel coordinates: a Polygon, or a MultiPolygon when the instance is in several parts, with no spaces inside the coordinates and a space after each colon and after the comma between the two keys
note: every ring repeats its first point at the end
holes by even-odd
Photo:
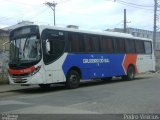
{"type": "Polygon", "coordinates": [[[123,80],[133,80],[135,77],[135,68],[134,66],[129,66],[127,69],[127,75],[122,76],[123,80]]]}

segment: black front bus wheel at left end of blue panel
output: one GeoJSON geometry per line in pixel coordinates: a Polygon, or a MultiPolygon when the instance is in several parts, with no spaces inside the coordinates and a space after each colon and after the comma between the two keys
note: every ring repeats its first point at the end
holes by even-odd
{"type": "Polygon", "coordinates": [[[66,87],[70,89],[75,89],[79,86],[80,75],[75,70],[70,70],[66,78],[66,87]]]}

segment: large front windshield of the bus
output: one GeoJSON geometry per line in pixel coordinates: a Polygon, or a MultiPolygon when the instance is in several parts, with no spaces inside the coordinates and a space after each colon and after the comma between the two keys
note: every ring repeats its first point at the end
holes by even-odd
{"type": "Polygon", "coordinates": [[[40,40],[36,35],[11,40],[10,64],[31,63],[39,61],[40,58],[40,40]]]}

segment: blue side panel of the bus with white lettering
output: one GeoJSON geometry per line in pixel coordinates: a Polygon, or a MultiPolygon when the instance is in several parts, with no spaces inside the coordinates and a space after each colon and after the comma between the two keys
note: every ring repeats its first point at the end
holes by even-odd
{"type": "Polygon", "coordinates": [[[82,79],[125,75],[122,63],[125,54],[68,54],[62,66],[65,76],[72,67],[78,67],[82,79]]]}

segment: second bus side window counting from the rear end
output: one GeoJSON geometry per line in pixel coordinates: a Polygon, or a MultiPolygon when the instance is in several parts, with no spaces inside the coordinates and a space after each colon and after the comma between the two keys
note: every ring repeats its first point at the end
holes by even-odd
{"type": "Polygon", "coordinates": [[[136,52],[145,54],[144,41],[136,40],[136,52]]]}

